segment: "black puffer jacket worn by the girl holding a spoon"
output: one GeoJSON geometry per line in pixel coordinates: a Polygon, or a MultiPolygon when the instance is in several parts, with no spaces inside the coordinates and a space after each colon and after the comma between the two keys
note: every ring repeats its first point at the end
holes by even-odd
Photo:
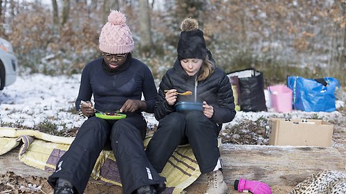
{"type": "MultiPolygon", "coordinates": [[[[212,59],[212,55],[209,52],[209,58],[212,59]]],[[[214,62],[212,59],[211,61],[214,62]]],[[[185,91],[192,91],[191,96],[178,95],[178,101],[206,101],[208,105],[214,107],[214,115],[212,115],[212,121],[217,124],[230,122],[235,117],[235,104],[233,91],[230,86],[230,81],[224,70],[221,68],[215,68],[215,71],[210,77],[203,81],[196,81],[197,75],[189,76],[178,59],[174,63],[174,67],[167,70],[163,75],[158,90],[158,99],[155,104],[155,118],[159,121],[165,115],[175,111],[174,106],[167,104],[165,100],[164,90],[176,89],[177,92],[183,93],[185,91]],[[197,83],[197,92],[194,90],[197,83]]]]}

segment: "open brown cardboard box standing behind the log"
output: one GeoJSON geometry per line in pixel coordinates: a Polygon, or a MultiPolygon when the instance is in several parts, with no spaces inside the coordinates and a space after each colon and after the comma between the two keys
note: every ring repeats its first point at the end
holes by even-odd
{"type": "Polygon", "coordinates": [[[271,118],[273,146],[331,146],[334,126],[320,119],[271,118]]]}

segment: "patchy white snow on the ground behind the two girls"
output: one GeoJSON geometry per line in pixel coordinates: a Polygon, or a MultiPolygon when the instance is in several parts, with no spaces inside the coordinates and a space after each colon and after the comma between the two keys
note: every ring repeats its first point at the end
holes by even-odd
{"type": "MultiPolygon", "coordinates": [[[[0,125],[26,126],[35,128],[42,123],[51,123],[57,130],[78,128],[84,118],[75,113],[74,102],[78,95],[80,75],[72,77],[51,77],[42,74],[17,77],[15,84],[0,91],[0,125]]],[[[337,108],[344,106],[336,101],[337,108]]],[[[145,114],[149,126],[157,124],[152,114],[145,114]]],[[[248,119],[256,121],[260,117],[318,118],[329,121],[343,117],[338,111],[331,113],[307,113],[293,110],[289,113],[268,111],[254,113],[238,111],[233,122],[224,124],[233,126],[248,119]]]]}

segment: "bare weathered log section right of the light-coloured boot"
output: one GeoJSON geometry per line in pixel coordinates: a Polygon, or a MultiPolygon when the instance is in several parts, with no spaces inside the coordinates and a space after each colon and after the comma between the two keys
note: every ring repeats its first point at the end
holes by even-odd
{"type": "Polygon", "coordinates": [[[222,144],[220,152],[228,184],[243,177],[271,186],[295,186],[316,172],[345,172],[345,158],[332,147],[222,144]]]}

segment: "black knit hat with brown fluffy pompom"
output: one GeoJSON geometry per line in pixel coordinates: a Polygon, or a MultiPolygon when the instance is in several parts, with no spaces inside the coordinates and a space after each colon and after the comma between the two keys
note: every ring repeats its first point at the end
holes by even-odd
{"type": "Polygon", "coordinates": [[[181,34],[178,41],[178,59],[205,59],[207,55],[206,41],[203,31],[199,30],[196,19],[186,18],[181,22],[181,34]]]}

